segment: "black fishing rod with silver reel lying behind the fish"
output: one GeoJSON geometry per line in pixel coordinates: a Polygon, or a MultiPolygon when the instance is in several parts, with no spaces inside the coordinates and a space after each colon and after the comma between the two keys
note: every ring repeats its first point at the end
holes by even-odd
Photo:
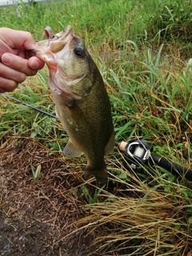
{"type": "MultiPolygon", "coordinates": [[[[25,102],[18,100],[17,98],[10,97],[8,95],[3,95],[6,98],[18,102],[24,106],[30,107],[33,110],[36,110],[42,114],[46,114],[50,118],[58,119],[54,114],[50,114],[44,110],[40,110],[37,107],[31,106],[25,102]]],[[[130,168],[136,170],[138,166],[143,166],[148,163],[151,165],[160,166],[165,170],[168,170],[170,173],[182,174],[184,177],[192,182],[192,170],[187,169],[186,167],[180,166],[175,162],[159,157],[157,155],[151,154],[151,146],[144,140],[136,139],[130,142],[115,142],[115,146],[125,154],[125,160],[130,164],[130,168]]]]}

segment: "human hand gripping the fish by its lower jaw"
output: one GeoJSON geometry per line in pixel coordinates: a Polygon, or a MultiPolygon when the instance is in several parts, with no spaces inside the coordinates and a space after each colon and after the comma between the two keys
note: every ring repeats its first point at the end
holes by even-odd
{"type": "Polygon", "coordinates": [[[26,76],[42,69],[44,62],[27,54],[31,49],[39,46],[29,32],[0,28],[0,93],[13,91],[26,76]]]}

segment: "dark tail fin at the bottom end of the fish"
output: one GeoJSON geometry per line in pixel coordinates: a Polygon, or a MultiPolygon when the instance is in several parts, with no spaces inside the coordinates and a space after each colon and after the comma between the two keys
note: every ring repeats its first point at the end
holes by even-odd
{"type": "Polygon", "coordinates": [[[86,167],[83,178],[87,181],[89,178],[95,177],[97,182],[102,185],[108,184],[108,174],[106,166],[103,166],[101,169],[91,168],[90,166],[86,167]]]}

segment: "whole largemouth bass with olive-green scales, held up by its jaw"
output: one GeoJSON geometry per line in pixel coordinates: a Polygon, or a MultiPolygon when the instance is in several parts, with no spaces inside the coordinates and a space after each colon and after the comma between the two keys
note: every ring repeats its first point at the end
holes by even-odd
{"type": "Polygon", "coordinates": [[[82,39],[71,26],[58,34],[46,27],[36,56],[46,62],[56,114],[69,136],[64,154],[86,155],[84,179],[107,184],[104,155],[114,149],[114,126],[106,87],[82,39]]]}

